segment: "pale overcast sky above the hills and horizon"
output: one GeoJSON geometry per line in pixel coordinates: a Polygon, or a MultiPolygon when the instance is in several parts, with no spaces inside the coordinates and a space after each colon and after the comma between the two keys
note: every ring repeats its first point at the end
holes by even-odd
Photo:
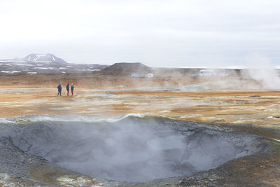
{"type": "Polygon", "coordinates": [[[0,59],[280,66],[278,0],[1,0],[0,59]]]}

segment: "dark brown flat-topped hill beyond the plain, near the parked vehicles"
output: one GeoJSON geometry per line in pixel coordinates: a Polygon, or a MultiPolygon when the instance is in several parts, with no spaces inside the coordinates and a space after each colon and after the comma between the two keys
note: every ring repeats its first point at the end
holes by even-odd
{"type": "Polygon", "coordinates": [[[151,67],[147,67],[140,62],[128,63],[120,62],[111,65],[102,69],[102,74],[111,74],[111,75],[130,75],[130,74],[148,74],[151,73],[151,67]]]}

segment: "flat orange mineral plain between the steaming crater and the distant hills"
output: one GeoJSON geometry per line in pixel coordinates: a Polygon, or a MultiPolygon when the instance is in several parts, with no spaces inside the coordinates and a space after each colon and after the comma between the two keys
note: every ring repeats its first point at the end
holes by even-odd
{"type": "Polygon", "coordinates": [[[230,78],[217,82],[102,75],[1,76],[0,104],[1,118],[42,114],[119,118],[146,113],[280,139],[280,91],[230,78]],[[62,83],[62,97],[57,96],[58,83],[62,83]],[[74,96],[66,95],[66,83],[75,85],[74,96]]]}

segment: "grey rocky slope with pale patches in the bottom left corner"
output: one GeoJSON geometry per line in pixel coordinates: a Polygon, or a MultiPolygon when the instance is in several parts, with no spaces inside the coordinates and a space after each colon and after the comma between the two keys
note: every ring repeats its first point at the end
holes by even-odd
{"type": "Polygon", "coordinates": [[[48,160],[21,151],[8,137],[0,138],[0,186],[92,186],[89,176],[62,169],[48,160]]]}

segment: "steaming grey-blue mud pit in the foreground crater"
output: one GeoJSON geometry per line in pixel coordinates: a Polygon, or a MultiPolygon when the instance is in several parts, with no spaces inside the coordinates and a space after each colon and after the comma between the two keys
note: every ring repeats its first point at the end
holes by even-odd
{"type": "Polygon", "coordinates": [[[258,137],[197,123],[127,117],[113,123],[38,121],[0,125],[25,153],[101,179],[150,181],[195,174],[260,151],[258,137]]]}

